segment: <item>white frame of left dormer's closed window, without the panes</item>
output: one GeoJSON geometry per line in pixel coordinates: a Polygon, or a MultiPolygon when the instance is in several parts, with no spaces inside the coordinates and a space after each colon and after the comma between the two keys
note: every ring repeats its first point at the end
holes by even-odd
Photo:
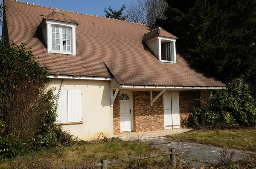
{"type": "Polygon", "coordinates": [[[76,24],[63,23],[53,20],[46,20],[47,23],[47,51],[51,54],[76,55],[76,24]],[[60,51],[52,50],[52,26],[59,27],[60,30],[60,51]],[[62,51],[62,28],[70,29],[70,51],[62,51]]]}

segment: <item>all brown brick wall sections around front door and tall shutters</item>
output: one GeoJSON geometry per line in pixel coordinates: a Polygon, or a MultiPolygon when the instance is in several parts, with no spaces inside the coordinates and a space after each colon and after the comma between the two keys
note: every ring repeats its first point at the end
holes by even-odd
{"type": "MultiPolygon", "coordinates": [[[[153,98],[160,91],[153,92],[153,98]]],[[[163,95],[151,106],[149,91],[133,91],[134,132],[164,130],[163,95]]],[[[119,93],[113,104],[113,131],[120,134],[120,102],[119,93]]],[[[189,115],[194,107],[200,107],[199,92],[179,92],[180,125],[187,127],[189,115]]]]}

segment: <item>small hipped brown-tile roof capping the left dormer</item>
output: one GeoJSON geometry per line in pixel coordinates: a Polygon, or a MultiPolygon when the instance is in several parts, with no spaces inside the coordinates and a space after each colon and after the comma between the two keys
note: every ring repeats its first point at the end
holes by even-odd
{"type": "Polygon", "coordinates": [[[64,14],[59,9],[56,9],[55,11],[46,15],[43,19],[45,19],[45,20],[55,20],[55,21],[65,22],[65,23],[73,23],[73,24],[78,25],[78,22],[76,20],[73,20],[71,17],[68,17],[66,14],[64,14]]]}

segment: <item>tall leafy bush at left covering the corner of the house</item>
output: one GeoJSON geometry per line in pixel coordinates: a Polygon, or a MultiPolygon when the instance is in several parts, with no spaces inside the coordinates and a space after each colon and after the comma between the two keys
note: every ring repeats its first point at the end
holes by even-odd
{"type": "Polygon", "coordinates": [[[0,56],[0,158],[80,143],[55,125],[58,96],[47,87],[48,70],[31,49],[0,42],[0,56]]]}

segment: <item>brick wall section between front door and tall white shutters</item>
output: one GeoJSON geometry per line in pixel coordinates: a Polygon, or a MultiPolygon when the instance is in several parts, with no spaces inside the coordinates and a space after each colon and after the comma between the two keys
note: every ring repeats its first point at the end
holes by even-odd
{"type": "MultiPolygon", "coordinates": [[[[163,95],[151,106],[149,91],[134,91],[132,93],[134,132],[163,130],[163,95]]],[[[153,98],[157,96],[158,93],[160,93],[160,91],[153,92],[153,98]]]]}

